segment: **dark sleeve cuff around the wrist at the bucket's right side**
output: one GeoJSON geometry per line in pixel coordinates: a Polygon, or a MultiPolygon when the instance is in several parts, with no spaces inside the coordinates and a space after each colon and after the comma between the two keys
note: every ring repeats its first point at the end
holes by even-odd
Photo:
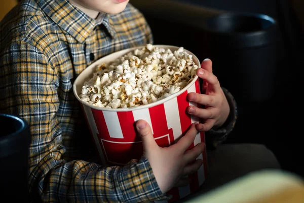
{"type": "Polygon", "coordinates": [[[238,118],[238,108],[234,96],[227,89],[223,87],[222,90],[227,98],[230,107],[230,114],[227,120],[225,121],[225,123],[221,127],[217,129],[210,129],[205,133],[206,145],[208,150],[216,149],[218,145],[220,145],[227,139],[228,135],[234,129],[238,118]]]}

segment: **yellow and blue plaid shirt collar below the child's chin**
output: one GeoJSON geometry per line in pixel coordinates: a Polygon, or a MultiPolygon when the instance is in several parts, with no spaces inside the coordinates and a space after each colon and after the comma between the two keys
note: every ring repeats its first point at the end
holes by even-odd
{"type": "Polygon", "coordinates": [[[111,37],[115,37],[115,29],[112,28],[109,14],[99,14],[92,19],[67,0],[36,0],[42,10],[62,29],[80,43],[84,43],[90,36],[95,26],[103,24],[111,37]]]}

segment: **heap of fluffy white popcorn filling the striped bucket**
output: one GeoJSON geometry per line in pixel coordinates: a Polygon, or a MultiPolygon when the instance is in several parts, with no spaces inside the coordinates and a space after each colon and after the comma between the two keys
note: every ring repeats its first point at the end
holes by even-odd
{"type": "Polygon", "coordinates": [[[198,66],[183,47],[172,52],[147,44],[109,64],[96,67],[80,98],[101,108],[128,108],[154,103],[183,89],[198,66]]]}

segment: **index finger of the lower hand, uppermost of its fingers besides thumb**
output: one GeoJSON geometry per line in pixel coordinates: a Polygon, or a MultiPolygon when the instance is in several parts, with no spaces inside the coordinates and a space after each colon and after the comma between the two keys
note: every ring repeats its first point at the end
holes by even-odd
{"type": "Polygon", "coordinates": [[[173,147],[176,148],[176,150],[184,153],[188,149],[188,147],[193,143],[198,133],[195,127],[196,124],[197,123],[192,123],[186,134],[183,137],[181,137],[181,139],[175,145],[172,145],[173,147]]]}

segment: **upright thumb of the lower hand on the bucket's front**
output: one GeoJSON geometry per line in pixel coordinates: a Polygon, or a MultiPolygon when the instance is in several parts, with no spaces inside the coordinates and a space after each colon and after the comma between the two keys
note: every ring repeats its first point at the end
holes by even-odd
{"type": "Polygon", "coordinates": [[[143,150],[155,149],[158,147],[154,140],[150,125],[144,120],[138,120],[136,122],[136,129],[139,137],[141,138],[143,150]]]}

